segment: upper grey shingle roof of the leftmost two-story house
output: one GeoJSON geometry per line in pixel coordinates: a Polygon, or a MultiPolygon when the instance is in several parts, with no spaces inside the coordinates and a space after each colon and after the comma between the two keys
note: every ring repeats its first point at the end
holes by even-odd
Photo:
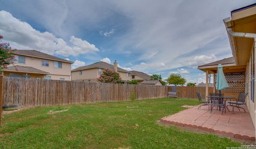
{"type": "Polygon", "coordinates": [[[42,59],[47,59],[47,60],[55,60],[55,61],[61,61],[61,62],[66,62],[66,63],[73,63],[71,61],[61,59],[60,57],[56,57],[53,55],[49,55],[43,52],[36,51],[35,49],[28,50],[28,49],[16,49],[13,51],[14,54],[17,55],[23,55],[23,56],[31,56],[31,57],[37,57],[37,58],[42,58],[42,59]]]}

